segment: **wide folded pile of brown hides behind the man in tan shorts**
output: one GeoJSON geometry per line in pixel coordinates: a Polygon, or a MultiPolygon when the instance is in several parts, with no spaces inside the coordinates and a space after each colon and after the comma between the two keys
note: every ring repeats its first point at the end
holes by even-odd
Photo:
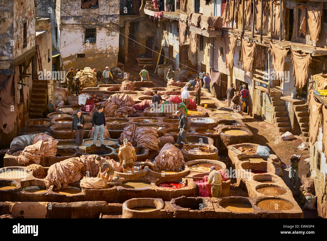
{"type": "Polygon", "coordinates": [[[142,146],[152,151],[159,149],[158,137],[157,131],[151,127],[136,127],[135,124],[131,124],[124,128],[119,141],[123,143],[126,138],[133,146],[142,146]]]}

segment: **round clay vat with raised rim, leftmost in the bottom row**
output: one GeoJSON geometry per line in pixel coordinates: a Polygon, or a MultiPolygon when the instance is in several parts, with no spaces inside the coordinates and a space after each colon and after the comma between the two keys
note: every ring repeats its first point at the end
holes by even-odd
{"type": "Polygon", "coordinates": [[[132,198],[123,203],[122,218],[158,218],[163,205],[159,198],[132,198]]]}

